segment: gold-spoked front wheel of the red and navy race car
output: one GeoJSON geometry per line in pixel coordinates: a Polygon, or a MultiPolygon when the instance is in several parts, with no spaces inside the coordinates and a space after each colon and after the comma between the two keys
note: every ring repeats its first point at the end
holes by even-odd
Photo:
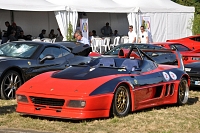
{"type": "Polygon", "coordinates": [[[125,85],[120,85],[117,87],[113,102],[112,111],[117,117],[124,117],[128,115],[131,107],[130,91],[125,85]]]}

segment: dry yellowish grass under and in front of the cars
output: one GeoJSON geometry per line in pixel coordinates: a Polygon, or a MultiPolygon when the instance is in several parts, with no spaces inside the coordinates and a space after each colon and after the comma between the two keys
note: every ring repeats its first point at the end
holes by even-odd
{"type": "Polygon", "coordinates": [[[1,129],[56,133],[199,133],[200,91],[191,90],[185,106],[162,106],[133,112],[124,118],[84,121],[21,116],[15,100],[0,100],[1,129]]]}

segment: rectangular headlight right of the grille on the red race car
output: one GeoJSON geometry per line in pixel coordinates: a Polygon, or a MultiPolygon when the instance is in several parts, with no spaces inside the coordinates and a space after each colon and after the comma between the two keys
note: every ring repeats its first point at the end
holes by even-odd
{"type": "Polygon", "coordinates": [[[69,100],[67,103],[68,107],[72,108],[84,108],[86,105],[86,101],[84,100],[69,100]]]}

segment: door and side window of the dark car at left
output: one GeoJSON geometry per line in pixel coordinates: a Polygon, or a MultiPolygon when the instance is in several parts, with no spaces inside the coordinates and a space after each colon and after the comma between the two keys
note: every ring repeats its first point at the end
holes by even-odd
{"type": "Polygon", "coordinates": [[[36,76],[40,73],[54,70],[63,70],[69,66],[68,58],[72,58],[73,54],[69,51],[61,50],[61,47],[49,46],[46,47],[37,59],[37,65],[32,67],[31,76],[36,76]],[[53,59],[46,59],[41,62],[45,56],[51,55],[53,59]]]}

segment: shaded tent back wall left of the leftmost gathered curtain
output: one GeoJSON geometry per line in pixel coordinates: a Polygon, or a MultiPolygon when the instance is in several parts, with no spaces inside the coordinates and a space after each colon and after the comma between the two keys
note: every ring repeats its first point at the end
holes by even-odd
{"type": "Polygon", "coordinates": [[[14,21],[21,26],[24,33],[37,37],[42,29],[46,30],[46,36],[51,29],[57,33],[58,24],[54,12],[22,12],[14,11],[14,21]]]}

